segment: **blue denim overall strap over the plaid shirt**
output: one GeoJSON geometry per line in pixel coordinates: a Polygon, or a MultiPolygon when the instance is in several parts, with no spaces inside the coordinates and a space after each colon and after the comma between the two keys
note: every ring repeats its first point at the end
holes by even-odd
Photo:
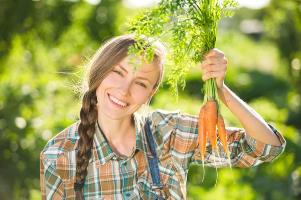
{"type": "Polygon", "coordinates": [[[145,120],[145,131],[146,131],[146,139],[147,139],[148,147],[150,148],[150,152],[153,155],[153,158],[146,156],[148,161],[150,176],[152,176],[152,184],[150,185],[150,188],[152,190],[160,189],[160,195],[157,196],[154,200],[165,200],[165,198],[162,196],[162,189],[164,188],[164,185],[159,171],[154,135],[152,129],[150,129],[150,126],[148,124],[148,116],[146,117],[145,120]]]}

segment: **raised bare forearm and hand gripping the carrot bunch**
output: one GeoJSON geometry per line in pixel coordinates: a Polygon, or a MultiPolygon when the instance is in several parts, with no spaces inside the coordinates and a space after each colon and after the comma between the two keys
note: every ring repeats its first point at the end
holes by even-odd
{"type": "Polygon", "coordinates": [[[202,79],[216,78],[220,100],[239,119],[246,133],[262,143],[281,146],[279,138],[269,128],[264,119],[234,94],[224,83],[228,60],[217,48],[211,49],[202,62],[202,79]]]}

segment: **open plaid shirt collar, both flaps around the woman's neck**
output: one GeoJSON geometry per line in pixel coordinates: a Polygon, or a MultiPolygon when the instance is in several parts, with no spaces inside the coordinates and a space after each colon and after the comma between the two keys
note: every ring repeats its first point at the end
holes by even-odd
{"type": "MultiPolygon", "coordinates": [[[[135,149],[140,150],[143,154],[148,157],[153,157],[152,153],[150,153],[150,149],[147,144],[146,135],[144,131],[144,121],[145,116],[140,115],[138,113],[134,113],[135,118],[135,138],[136,144],[135,149]]],[[[93,135],[93,159],[95,160],[96,167],[102,166],[107,161],[109,161],[113,156],[115,156],[115,152],[110,148],[109,144],[105,140],[104,136],[101,133],[101,129],[97,123],[97,119],[94,121],[95,125],[95,134],[93,135]]],[[[152,125],[150,125],[152,127],[152,125]]],[[[92,159],[90,160],[92,161],[92,159]]]]}

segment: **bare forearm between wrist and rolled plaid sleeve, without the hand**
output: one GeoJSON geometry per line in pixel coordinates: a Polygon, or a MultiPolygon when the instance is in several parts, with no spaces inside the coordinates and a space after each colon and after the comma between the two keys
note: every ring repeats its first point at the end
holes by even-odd
{"type": "Polygon", "coordinates": [[[239,119],[248,135],[262,143],[281,146],[279,138],[266,124],[264,119],[227,86],[219,89],[218,95],[220,100],[239,119]]]}

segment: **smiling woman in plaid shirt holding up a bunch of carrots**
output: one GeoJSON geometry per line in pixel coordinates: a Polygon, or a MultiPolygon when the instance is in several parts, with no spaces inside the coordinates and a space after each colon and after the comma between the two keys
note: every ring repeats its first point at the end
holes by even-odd
{"type": "MultiPolygon", "coordinates": [[[[81,120],[57,134],[41,152],[43,199],[186,198],[189,165],[202,164],[198,116],[180,110],[136,112],[161,84],[167,51],[157,42],[154,60],[134,72],[126,59],[132,44],[133,35],[117,36],[93,56],[81,120]]],[[[272,162],[284,150],[285,139],[224,84],[224,53],[211,49],[205,58],[203,80],[216,77],[219,98],[244,127],[227,128],[231,164],[272,162]]],[[[218,144],[225,155],[219,140],[218,144]]],[[[214,166],[209,142],[206,147],[204,163],[214,166]]],[[[216,164],[229,163],[225,158],[216,164]]]]}

